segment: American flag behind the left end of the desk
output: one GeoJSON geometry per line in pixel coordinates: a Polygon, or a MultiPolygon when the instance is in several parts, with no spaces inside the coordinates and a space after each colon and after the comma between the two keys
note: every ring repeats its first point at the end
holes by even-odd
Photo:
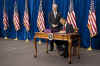
{"type": "Polygon", "coordinates": [[[40,7],[39,7],[37,26],[40,32],[45,30],[45,21],[44,21],[44,14],[42,10],[42,3],[40,3],[40,7]]]}

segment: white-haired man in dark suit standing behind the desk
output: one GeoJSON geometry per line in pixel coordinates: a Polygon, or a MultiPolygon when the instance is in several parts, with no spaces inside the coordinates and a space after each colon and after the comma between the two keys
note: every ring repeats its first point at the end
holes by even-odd
{"type": "MultiPolygon", "coordinates": [[[[57,10],[57,5],[52,5],[52,11],[48,15],[48,23],[50,24],[51,32],[59,32],[62,30],[63,25],[60,23],[61,15],[57,10]]],[[[50,41],[50,51],[53,51],[54,49],[54,40],[50,41]]],[[[58,41],[55,41],[56,44],[58,44],[58,41]]]]}

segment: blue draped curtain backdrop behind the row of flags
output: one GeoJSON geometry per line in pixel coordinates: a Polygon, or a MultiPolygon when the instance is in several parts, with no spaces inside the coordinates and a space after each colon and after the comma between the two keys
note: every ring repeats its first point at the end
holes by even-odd
{"type": "MultiPolygon", "coordinates": [[[[14,13],[14,1],[15,0],[6,0],[6,10],[7,15],[9,18],[9,28],[7,30],[9,38],[16,37],[16,31],[13,25],[13,13],[14,13]]],[[[29,9],[29,17],[30,17],[30,27],[31,30],[28,32],[28,38],[30,40],[33,39],[34,33],[38,31],[37,28],[37,15],[39,10],[39,3],[40,0],[28,0],[28,9],[29,9]]],[[[53,0],[43,0],[43,11],[44,11],[44,18],[46,23],[46,28],[49,27],[48,24],[48,13],[52,9],[52,2],[53,0]]],[[[68,7],[69,7],[69,0],[56,0],[58,4],[58,10],[61,12],[63,18],[66,19],[68,7]]],[[[100,19],[99,19],[99,12],[100,12],[100,0],[95,0],[96,5],[96,17],[97,17],[97,27],[98,27],[98,35],[92,38],[92,47],[95,49],[100,49],[100,19]]],[[[90,0],[74,0],[74,10],[76,13],[77,18],[77,26],[79,28],[79,33],[81,35],[81,45],[85,48],[89,47],[90,44],[90,36],[89,30],[87,28],[88,23],[88,13],[89,13],[89,5],[90,0]]],[[[18,13],[20,19],[21,29],[18,31],[18,39],[25,40],[27,38],[27,32],[25,30],[23,24],[23,16],[25,10],[25,0],[17,0],[18,6],[18,13]]],[[[0,0],[0,36],[5,36],[5,31],[3,30],[3,0],[0,0]]]]}

